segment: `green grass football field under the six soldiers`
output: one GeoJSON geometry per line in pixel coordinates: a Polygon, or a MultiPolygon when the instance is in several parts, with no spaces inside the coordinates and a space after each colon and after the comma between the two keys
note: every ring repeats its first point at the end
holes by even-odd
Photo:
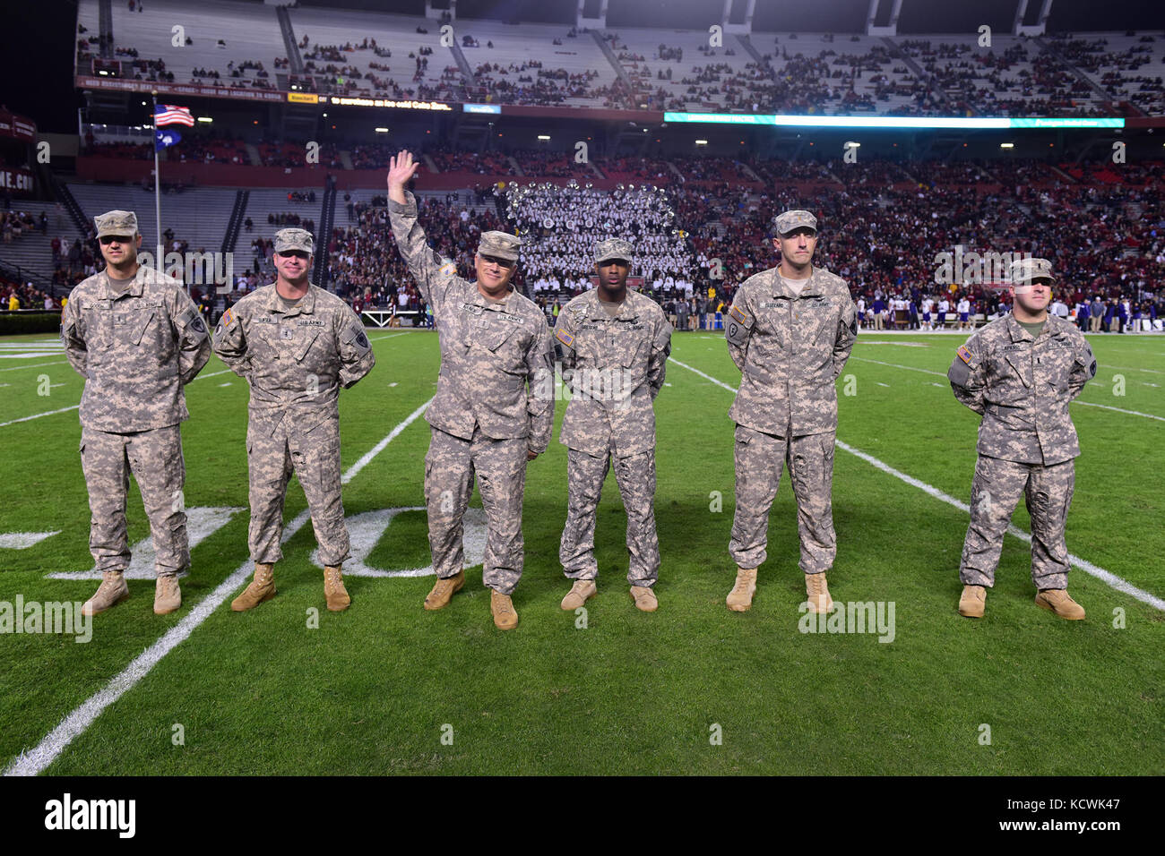
{"type": "MultiPolygon", "coordinates": [[[[409,509],[424,503],[429,427],[418,413],[435,391],[437,338],[370,338],[375,369],[340,395],[345,510],[362,567],[424,568],[424,512],[409,509]]],[[[958,503],[970,490],[977,424],[945,377],[961,341],[863,331],[838,382],[829,588],[841,607],[883,604],[885,618],[892,603],[892,638],[803,632],[788,474],[753,609],[726,609],[735,573],[728,388],[740,373],[719,333],[675,337],[656,402],[658,613],[638,613],[628,595],[613,476],[599,512],[599,595],[585,615],[559,608],[569,582],[558,565],[566,451],[557,427],[528,468],[515,631],[494,628],[480,565],[442,611],[422,609],[431,575],[350,573],[351,609],[327,613],[298,483],[278,595],[232,613],[250,573],[247,385],[212,359],[186,389],[185,501],[200,540],[182,609],[155,616],[153,582],[130,580],[129,600],[93,618],[87,643],[0,635],[0,765],[49,774],[1160,774],[1165,338],[1090,338],[1100,369],[1072,405],[1082,457],[1067,538],[1111,585],[1073,570],[1083,622],[1033,604],[1029,545],[1015,536],[987,616],[955,610],[967,526],[958,503]]],[[[0,359],[0,604],[84,601],[97,582],[79,576],[93,566],[77,453],[82,379],[51,337],[6,338],[0,353],[9,355],[0,359]],[[43,355],[10,356],[41,353],[36,342],[47,342],[43,355]],[[55,535],[28,544],[20,532],[55,535]]],[[[564,411],[559,402],[559,424],[564,411]]],[[[1014,524],[1030,531],[1022,503],[1014,524]]],[[[130,544],[148,537],[132,486],[130,544]]]]}

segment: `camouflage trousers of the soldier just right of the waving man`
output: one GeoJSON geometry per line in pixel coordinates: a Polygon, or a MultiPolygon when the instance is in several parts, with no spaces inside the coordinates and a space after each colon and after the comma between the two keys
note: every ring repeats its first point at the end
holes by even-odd
{"type": "Polygon", "coordinates": [[[572,580],[593,580],[599,575],[594,559],[594,524],[607,469],[615,471],[615,482],[627,510],[627,552],[630,557],[627,581],[650,588],[659,576],[659,538],[655,528],[655,451],[619,458],[614,438],[601,457],[572,448],[566,458],[566,525],[558,547],[563,571],[572,580]]]}

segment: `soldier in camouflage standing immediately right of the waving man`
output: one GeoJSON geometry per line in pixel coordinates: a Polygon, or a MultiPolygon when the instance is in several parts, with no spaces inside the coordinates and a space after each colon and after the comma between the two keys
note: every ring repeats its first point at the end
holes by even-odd
{"type": "Polygon", "coordinates": [[[627,509],[627,580],[645,613],[659,603],[652,587],[659,572],[655,510],[655,412],[663,388],[671,324],[649,297],[627,290],[635,248],[609,239],[595,247],[599,286],[579,295],[558,314],[555,338],[571,403],[559,441],[566,446],[569,507],[559,547],[566,576],[574,580],[563,609],[581,607],[596,592],[594,524],[607,468],[627,509]],[[570,375],[567,373],[571,373],[570,375]]]}

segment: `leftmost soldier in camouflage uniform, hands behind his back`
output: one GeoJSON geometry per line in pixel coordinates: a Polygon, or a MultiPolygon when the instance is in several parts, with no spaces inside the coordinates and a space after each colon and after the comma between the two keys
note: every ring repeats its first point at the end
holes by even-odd
{"type": "Polygon", "coordinates": [[[178,575],[190,565],[183,387],[210,360],[210,335],[182,283],[137,263],[136,214],[110,211],[94,222],[105,270],[77,285],[61,314],[65,355],[85,377],[80,460],[92,514],[89,546],[101,572],[82,609],[94,615],[129,596],[126,494],[133,472],[156,553],[154,611],[164,615],[182,606],[178,575]]]}

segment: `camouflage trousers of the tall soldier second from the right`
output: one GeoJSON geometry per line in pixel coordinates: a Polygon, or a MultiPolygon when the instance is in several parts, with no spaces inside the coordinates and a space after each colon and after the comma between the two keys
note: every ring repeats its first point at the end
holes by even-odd
{"type": "Polygon", "coordinates": [[[833,567],[838,553],[831,496],[835,433],[774,437],[736,426],[736,514],[728,553],[740,567],[758,567],[768,558],[769,510],[785,464],[797,497],[800,568],[818,574],[833,567]]]}

